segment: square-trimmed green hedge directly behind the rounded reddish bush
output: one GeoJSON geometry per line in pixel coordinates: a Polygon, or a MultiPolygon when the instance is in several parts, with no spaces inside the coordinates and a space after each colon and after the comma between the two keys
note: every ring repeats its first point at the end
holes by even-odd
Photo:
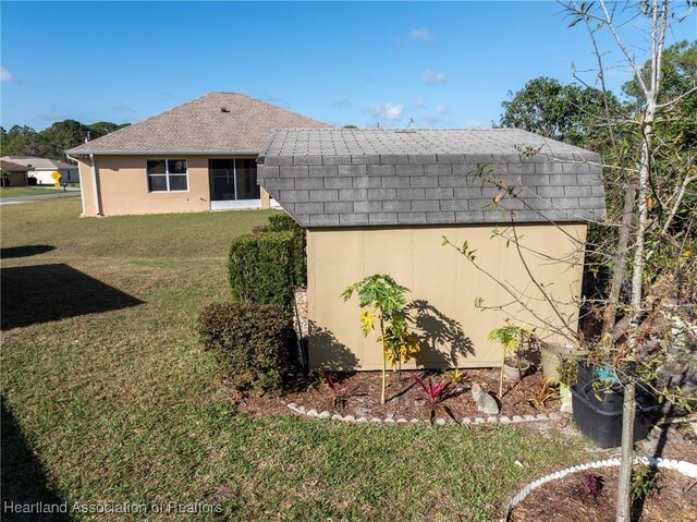
{"type": "Polygon", "coordinates": [[[240,235],[230,244],[228,272],[232,296],[293,311],[293,234],[268,232],[240,235]]]}

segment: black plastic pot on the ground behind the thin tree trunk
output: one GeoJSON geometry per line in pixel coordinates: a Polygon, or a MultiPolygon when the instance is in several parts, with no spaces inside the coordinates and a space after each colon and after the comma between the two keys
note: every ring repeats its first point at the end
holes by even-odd
{"type": "MultiPolygon", "coordinates": [[[[620,392],[608,390],[590,394],[572,385],[571,397],[574,421],[580,432],[600,448],[614,448],[622,445],[622,401],[620,392]]],[[[638,397],[638,396],[637,396],[638,397]]],[[[656,423],[660,410],[657,404],[641,404],[637,400],[634,418],[634,440],[645,438],[656,423]]]]}

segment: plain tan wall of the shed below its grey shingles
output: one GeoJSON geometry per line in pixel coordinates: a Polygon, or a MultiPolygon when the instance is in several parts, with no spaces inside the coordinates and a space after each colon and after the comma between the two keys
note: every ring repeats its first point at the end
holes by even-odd
{"type": "MultiPolygon", "coordinates": [[[[521,243],[529,248],[525,259],[539,282],[570,317],[573,328],[578,320],[578,298],[583,272],[585,224],[549,224],[516,227],[521,243]],[[572,241],[566,234],[576,238],[572,241]],[[537,253],[570,263],[551,263],[537,253]]],[[[416,303],[412,316],[417,318],[421,345],[415,367],[487,367],[501,364],[501,351],[487,339],[489,331],[503,326],[508,314],[481,311],[474,303],[484,299],[485,306],[511,301],[498,284],[478,271],[451,246],[442,246],[445,235],[455,245],[468,242],[477,250],[476,262],[501,281],[513,283],[530,295],[537,315],[559,324],[549,304],[530,282],[513,243],[491,239],[491,226],[433,228],[311,230],[307,234],[309,362],[314,368],[381,368],[381,349],[377,333],[364,339],[359,307],[354,296],[347,303],[340,298],[351,283],[372,274],[389,274],[412,290],[416,303]]],[[[519,305],[506,308],[521,323],[536,319],[519,305]]],[[[549,341],[557,336],[539,329],[549,341]]],[[[412,363],[413,366],[413,363],[412,363]]]]}

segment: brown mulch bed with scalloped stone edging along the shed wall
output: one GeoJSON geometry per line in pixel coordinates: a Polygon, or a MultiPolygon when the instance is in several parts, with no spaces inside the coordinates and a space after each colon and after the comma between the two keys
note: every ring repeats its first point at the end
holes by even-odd
{"type": "MultiPolygon", "coordinates": [[[[458,384],[449,384],[447,386],[442,400],[439,402],[443,409],[438,411],[438,416],[448,418],[452,415],[456,421],[463,417],[486,417],[486,414],[477,411],[472,398],[470,387],[473,383],[482,384],[485,389],[496,397],[499,390],[499,371],[463,369],[461,374],[462,380],[458,384]]],[[[430,377],[433,385],[437,385],[443,380],[448,381],[450,373],[405,371],[402,372],[400,378],[399,374],[390,372],[388,374],[388,400],[386,404],[380,404],[380,372],[331,374],[331,376],[338,388],[345,388],[345,391],[340,393],[340,400],[335,404],[329,386],[317,375],[310,378],[294,378],[280,392],[262,396],[231,393],[237,405],[253,416],[274,414],[281,411],[288,413],[289,410],[285,404],[295,403],[298,406],[305,406],[307,410],[329,411],[356,417],[427,420],[430,414],[429,401],[424,390],[416,384],[414,376],[418,376],[425,383],[428,383],[430,377]]],[[[503,398],[499,400],[500,414],[512,417],[513,415],[523,416],[526,414],[536,415],[559,412],[560,402],[558,397],[547,401],[543,406],[538,405],[536,408],[530,404],[531,400],[539,398],[542,385],[543,380],[540,373],[528,375],[516,385],[504,380],[503,398]]]]}

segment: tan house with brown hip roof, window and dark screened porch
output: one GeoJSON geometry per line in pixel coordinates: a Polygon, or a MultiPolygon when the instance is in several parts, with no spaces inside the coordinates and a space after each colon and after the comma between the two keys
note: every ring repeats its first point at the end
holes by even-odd
{"type": "Polygon", "coordinates": [[[331,125],[236,93],[211,93],[66,150],[83,216],[268,208],[257,156],[274,129],[331,125]]]}

